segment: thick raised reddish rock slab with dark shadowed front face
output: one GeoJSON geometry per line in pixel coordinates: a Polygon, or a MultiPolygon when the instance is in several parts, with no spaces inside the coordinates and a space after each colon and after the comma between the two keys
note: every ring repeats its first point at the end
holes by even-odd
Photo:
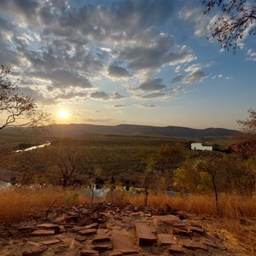
{"type": "Polygon", "coordinates": [[[150,245],[156,242],[156,238],[153,234],[155,230],[152,227],[143,223],[137,223],[135,227],[139,245],[150,245]]]}

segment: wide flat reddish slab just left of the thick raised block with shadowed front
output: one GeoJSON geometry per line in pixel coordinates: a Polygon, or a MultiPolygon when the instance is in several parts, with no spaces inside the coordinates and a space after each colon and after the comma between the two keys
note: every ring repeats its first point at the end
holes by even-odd
{"type": "Polygon", "coordinates": [[[110,238],[113,249],[121,252],[122,250],[136,250],[136,247],[131,240],[131,234],[127,230],[112,230],[110,238]]]}

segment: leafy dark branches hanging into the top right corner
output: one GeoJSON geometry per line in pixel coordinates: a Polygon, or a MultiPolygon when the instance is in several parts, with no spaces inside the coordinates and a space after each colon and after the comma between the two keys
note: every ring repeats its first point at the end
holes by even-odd
{"type": "Polygon", "coordinates": [[[233,49],[236,53],[237,40],[247,34],[256,35],[256,1],[247,0],[203,0],[205,14],[212,9],[221,9],[222,16],[211,27],[212,37],[216,38],[223,49],[233,49]]]}

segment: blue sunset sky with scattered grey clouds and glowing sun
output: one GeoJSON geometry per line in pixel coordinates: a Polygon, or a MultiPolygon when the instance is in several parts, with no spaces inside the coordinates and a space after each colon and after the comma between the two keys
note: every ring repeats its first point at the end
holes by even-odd
{"type": "Polygon", "coordinates": [[[56,123],[238,129],[256,108],[255,36],[207,40],[200,0],[3,0],[0,64],[56,123]]]}

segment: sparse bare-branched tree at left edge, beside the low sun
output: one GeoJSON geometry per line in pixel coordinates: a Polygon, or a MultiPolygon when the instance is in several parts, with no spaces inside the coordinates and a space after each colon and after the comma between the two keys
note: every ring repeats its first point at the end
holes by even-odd
{"type": "Polygon", "coordinates": [[[36,99],[31,96],[19,95],[16,83],[9,79],[10,67],[3,67],[0,71],[0,114],[5,127],[35,127],[49,124],[49,113],[38,107],[36,99]]]}

